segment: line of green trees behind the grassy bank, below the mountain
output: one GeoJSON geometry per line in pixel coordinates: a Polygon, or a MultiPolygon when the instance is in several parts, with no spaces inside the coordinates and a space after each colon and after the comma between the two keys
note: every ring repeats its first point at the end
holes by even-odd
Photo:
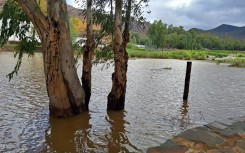
{"type": "Polygon", "coordinates": [[[147,34],[132,33],[132,43],[155,49],[245,50],[245,41],[207,32],[186,31],[182,26],[154,21],[147,34]]]}

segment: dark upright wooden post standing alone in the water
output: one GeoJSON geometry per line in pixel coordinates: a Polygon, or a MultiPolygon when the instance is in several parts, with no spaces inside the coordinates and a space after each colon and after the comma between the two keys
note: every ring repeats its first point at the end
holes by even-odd
{"type": "Polygon", "coordinates": [[[191,65],[192,62],[188,61],[186,66],[186,75],[185,75],[185,87],[184,87],[184,95],[183,99],[187,100],[189,95],[189,86],[190,86],[190,78],[191,78],[191,65]]]}

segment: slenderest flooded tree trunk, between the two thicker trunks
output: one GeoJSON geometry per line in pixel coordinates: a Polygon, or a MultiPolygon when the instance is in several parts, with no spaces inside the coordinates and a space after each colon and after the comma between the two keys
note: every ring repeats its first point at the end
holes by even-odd
{"type": "Polygon", "coordinates": [[[87,41],[83,50],[83,74],[82,83],[85,92],[85,106],[89,109],[89,101],[91,96],[91,73],[92,60],[95,42],[93,40],[93,23],[92,23],[92,0],[87,0],[87,41]]]}

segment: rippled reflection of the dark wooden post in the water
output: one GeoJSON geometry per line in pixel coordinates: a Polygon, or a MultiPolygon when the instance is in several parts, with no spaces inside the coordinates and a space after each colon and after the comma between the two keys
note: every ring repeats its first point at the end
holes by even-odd
{"type": "Polygon", "coordinates": [[[185,130],[188,127],[188,125],[190,124],[190,117],[188,114],[188,108],[189,108],[188,101],[184,100],[182,102],[182,106],[180,108],[180,112],[181,112],[180,128],[181,128],[181,130],[185,130]]]}

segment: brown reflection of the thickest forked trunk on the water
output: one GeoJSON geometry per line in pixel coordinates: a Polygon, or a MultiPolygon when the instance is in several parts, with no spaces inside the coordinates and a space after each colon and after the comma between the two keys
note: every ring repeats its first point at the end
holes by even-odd
{"type": "MultiPolygon", "coordinates": [[[[46,131],[46,151],[48,152],[93,152],[91,140],[91,119],[88,112],[69,119],[50,118],[50,128],[46,131]]],[[[44,151],[44,152],[46,152],[44,151]]]]}

